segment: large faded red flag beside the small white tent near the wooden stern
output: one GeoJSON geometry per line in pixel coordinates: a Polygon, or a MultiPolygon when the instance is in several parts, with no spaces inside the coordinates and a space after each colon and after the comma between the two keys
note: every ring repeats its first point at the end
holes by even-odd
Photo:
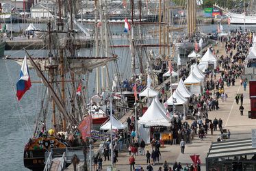
{"type": "Polygon", "coordinates": [[[91,133],[91,124],[92,124],[92,116],[86,116],[84,120],[79,125],[78,129],[81,132],[81,136],[83,140],[86,140],[86,137],[90,137],[91,133]]]}

